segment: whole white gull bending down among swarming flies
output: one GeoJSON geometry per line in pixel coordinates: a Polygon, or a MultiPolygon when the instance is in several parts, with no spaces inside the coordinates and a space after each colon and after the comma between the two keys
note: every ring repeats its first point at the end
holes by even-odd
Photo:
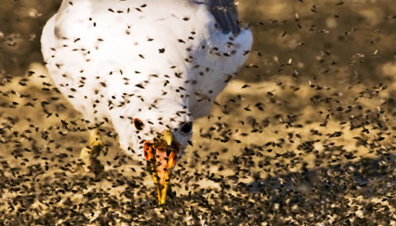
{"type": "MultiPolygon", "coordinates": [[[[165,202],[193,120],[244,64],[250,29],[232,0],[63,0],[43,29],[49,74],[87,122],[110,121],[120,146],[144,158],[165,202]]],[[[92,129],[86,171],[103,145],[92,129]]]]}

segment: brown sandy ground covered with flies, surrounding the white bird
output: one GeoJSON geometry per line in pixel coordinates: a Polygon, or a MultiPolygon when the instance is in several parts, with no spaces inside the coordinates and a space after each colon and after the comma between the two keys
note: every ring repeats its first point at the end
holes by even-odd
{"type": "Polygon", "coordinates": [[[109,128],[103,172],[68,171],[88,132],[39,45],[59,2],[0,4],[0,225],[396,224],[393,0],[239,1],[254,49],[164,206],[109,128]]]}

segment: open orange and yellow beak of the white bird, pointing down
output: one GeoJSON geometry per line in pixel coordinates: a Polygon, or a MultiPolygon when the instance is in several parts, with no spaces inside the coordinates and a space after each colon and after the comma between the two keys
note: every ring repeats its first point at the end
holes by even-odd
{"type": "Polygon", "coordinates": [[[169,176],[176,164],[179,147],[170,130],[163,131],[160,139],[146,141],[143,145],[143,153],[157,186],[159,204],[165,203],[169,176]]]}

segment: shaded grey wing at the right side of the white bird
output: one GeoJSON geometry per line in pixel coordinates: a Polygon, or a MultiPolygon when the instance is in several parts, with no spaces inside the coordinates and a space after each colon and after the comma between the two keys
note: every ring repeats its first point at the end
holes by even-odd
{"type": "Polygon", "coordinates": [[[201,67],[189,70],[196,81],[190,97],[190,111],[199,118],[209,114],[211,103],[246,61],[253,36],[250,29],[241,26],[233,0],[193,3],[205,5],[209,18],[204,38],[192,54],[194,62],[191,65],[201,67]],[[202,46],[206,48],[201,49],[202,46]]]}

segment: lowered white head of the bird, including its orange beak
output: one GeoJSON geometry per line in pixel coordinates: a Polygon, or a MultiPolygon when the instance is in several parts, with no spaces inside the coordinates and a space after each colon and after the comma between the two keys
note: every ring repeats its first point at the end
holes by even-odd
{"type": "Polygon", "coordinates": [[[129,128],[122,129],[127,133],[118,131],[121,147],[143,156],[147,162],[157,186],[159,204],[165,203],[173,167],[191,144],[192,123],[191,115],[185,110],[152,108],[130,117],[129,128]]]}

